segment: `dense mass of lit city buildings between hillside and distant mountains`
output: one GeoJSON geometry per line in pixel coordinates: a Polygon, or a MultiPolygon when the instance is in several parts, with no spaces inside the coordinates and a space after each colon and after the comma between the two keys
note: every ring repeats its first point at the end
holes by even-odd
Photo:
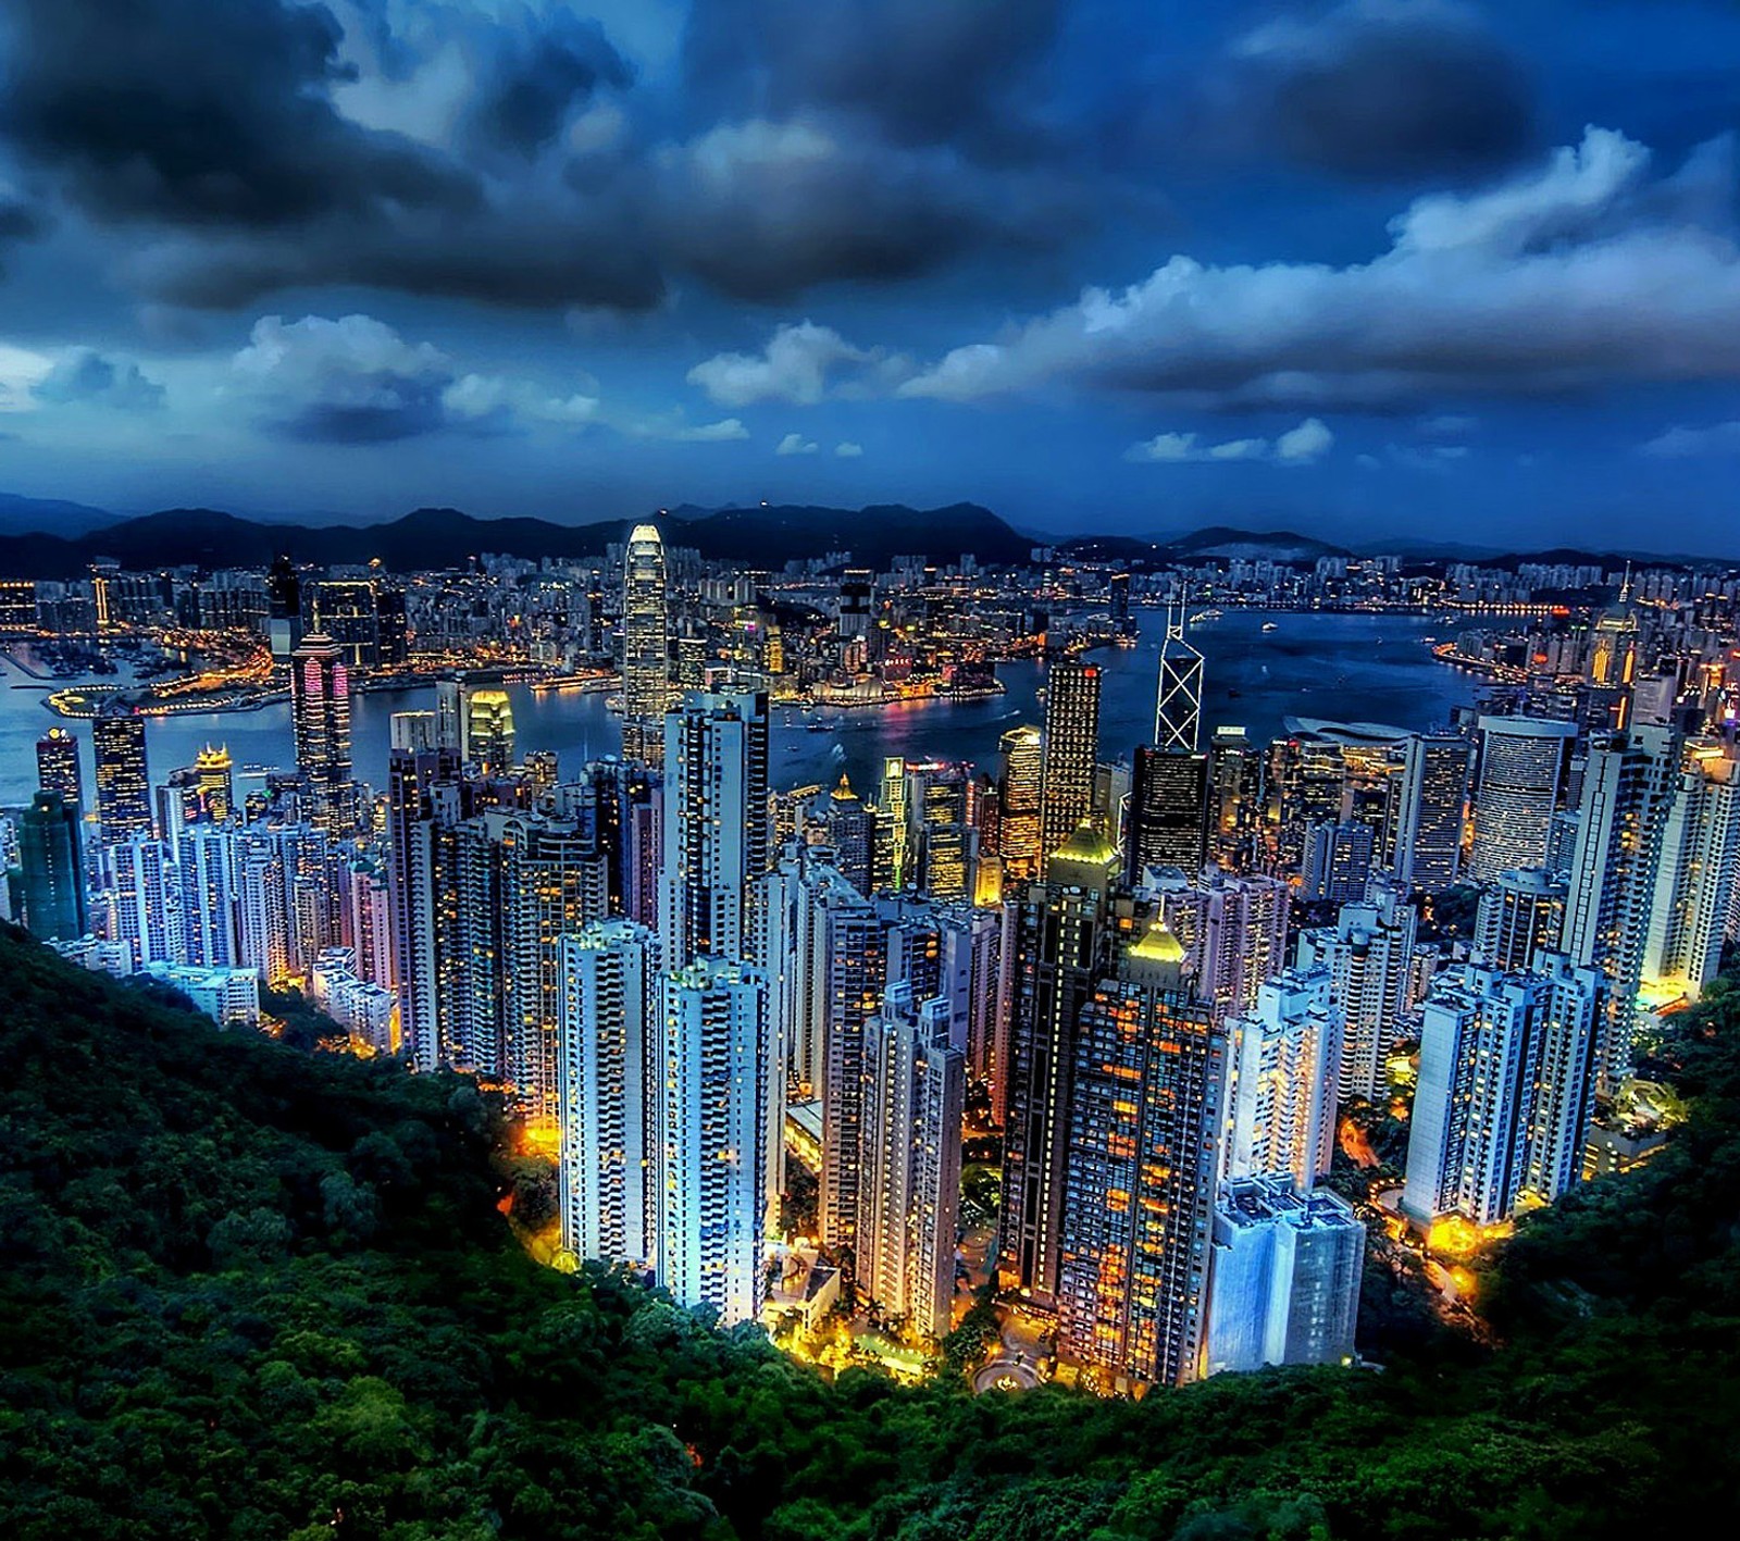
{"type": "MultiPolygon", "coordinates": [[[[1322,1186],[1340,1111],[1408,1106],[1413,1082],[1399,1219],[1550,1204],[1735,936],[1731,591],[1627,579],[1599,614],[1458,637],[1495,687],[1432,730],[1300,720],[1258,744],[1204,724],[1176,574],[1047,565],[999,609],[964,602],[973,564],[842,555],[759,590],[652,525],[616,555],[520,574],[512,610],[480,574],[304,586],[280,564],[191,602],[96,574],[71,630],[254,628],[296,769],[238,795],[209,746],[155,777],[150,717],[113,696],[90,793],[73,736],[38,746],[5,824],[12,913],[219,1021],[298,984],[362,1051],[499,1087],[559,1150],[566,1254],[726,1322],[793,1308],[797,1277],[799,1311],[856,1299],[945,1338],[971,1124],[1000,1141],[990,1273],[1058,1367],[1121,1390],[1352,1357],[1364,1223],[1322,1186]],[[1107,744],[1091,645],[1133,635],[1133,602],[1169,604],[1154,734],[1107,744]],[[614,649],[621,755],[520,753],[512,678],[440,663],[484,637],[559,668],[614,649]],[[1044,722],[997,765],[774,784],[793,692],[995,689],[990,661],[1028,642],[1044,722]],[[353,690],[412,644],[433,710],[392,718],[374,791],[353,690]]],[[[1223,602],[1418,598],[1385,560],[1194,577],[1223,602]]],[[[1439,600],[1599,577],[1453,570],[1439,600]]],[[[35,619],[63,602],[33,593],[35,619]]]]}

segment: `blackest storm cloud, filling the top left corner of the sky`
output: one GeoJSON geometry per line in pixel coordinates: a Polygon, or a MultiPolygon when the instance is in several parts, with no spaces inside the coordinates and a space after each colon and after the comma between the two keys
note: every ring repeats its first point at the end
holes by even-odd
{"type": "Polygon", "coordinates": [[[470,176],[346,122],[324,5],[14,0],[0,132],[90,212],[285,226],[386,207],[461,210],[470,176]]]}

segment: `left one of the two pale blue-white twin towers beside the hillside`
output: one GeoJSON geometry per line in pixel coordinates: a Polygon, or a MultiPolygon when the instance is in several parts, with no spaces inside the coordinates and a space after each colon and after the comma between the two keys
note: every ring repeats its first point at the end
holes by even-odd
{"type": "Polygon", "coordinates": [[[646,1263],[656,1251],[658,937],[632,920],[560,943],[562,1245],[646,1263]]]}

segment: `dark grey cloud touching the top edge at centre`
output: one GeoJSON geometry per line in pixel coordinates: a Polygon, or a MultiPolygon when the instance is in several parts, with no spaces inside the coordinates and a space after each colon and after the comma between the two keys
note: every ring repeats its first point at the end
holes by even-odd
{"type": "Polygon", "coordinates": [[[1061,0],[696,0],[693,87],[726,111],[844,108],[903,144],[1007,144],[1061,0]]]}

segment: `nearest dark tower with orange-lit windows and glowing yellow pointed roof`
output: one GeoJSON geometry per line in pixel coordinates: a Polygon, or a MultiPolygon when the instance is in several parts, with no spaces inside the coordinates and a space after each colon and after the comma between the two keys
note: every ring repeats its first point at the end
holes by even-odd
{"type": "Polygon", "coordinates": [[[1227,1042],[1159,918],[1081,1011],[1058,1355],[1138,1384],[1199,1374],[1227,1042]]]}

